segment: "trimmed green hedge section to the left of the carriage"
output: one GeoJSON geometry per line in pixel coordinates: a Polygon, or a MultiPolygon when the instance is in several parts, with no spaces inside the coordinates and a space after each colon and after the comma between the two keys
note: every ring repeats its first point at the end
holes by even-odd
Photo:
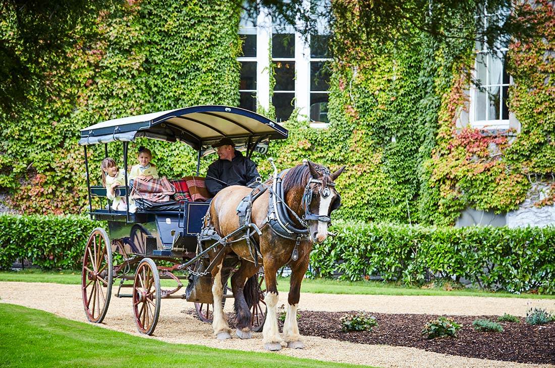
{"type": "Polygon", "coordinates": [[[0,215],[0,268],[27,258],[41,268],[80,268],[85,242],[102,222],[83,216],[0,215]]]}

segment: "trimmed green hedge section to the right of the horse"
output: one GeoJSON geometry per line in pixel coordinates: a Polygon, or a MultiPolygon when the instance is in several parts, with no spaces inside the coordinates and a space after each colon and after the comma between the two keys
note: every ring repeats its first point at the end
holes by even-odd
{"type": "Polygon", "coordinates": [[[555,227],[422,227],[338,223],[311,253],[314,274],[423,283],[440,275],[482,288],[555,293],[555,227]]]}

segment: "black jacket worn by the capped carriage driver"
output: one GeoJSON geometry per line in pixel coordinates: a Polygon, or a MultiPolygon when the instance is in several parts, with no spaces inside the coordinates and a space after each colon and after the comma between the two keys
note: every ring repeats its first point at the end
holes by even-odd
{"type": "Polygon", "coordinates": [[[206,189],[212,194],[216,195],[219,191],[225,188],[226,184],[229,185],[249,185],[259,177],[256,164],[247,159],[241,152],[235,150],[235,157],[233,160],[220,160],[214,161],[208,166],[206,173],[206,189]],[[223,182],[220,182],[219,179],[223,182]]]}

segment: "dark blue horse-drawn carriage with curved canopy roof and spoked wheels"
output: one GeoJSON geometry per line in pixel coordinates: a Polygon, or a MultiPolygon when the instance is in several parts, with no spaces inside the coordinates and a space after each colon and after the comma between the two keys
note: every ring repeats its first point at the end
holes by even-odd
{"type": "MultiPolygon", "coordinates": [[[[127,209],[115,211],[107,199],[106,188],[91,183],[88,147],[103,144],[104,157],[108,157],[109,144],[123,144],[123,168],[125,182],[128,182],[128,146],[139,137],[181,141],[193,147],[198,152],[198,176],[201,157],[213,152],[211,144],[223,137],[232,139],[236,149],[246,150],[246,156],[250,157],[255,151],[265,153],[270,140],[285,139],[287,134],[287,130],[264,116],[218,105],[113,119],[81,130],[79,144],[84,147],[88,214],[91,219],[105,221],[108,225],[107,229],[94,229],[85,246],[82,289],[87,318],[94,323],[102,322],[112,295],[112,285],[119,280],[114,296],[133,299],[135,323],[141,333],[153,333],[160,299],[194,301],[199,318],[210,321],[213,282],[210,273],[203,272],[206,252],[201,252],[203,249],[199,249],[197,242],[210,203],[162,202],[160,206],[137,208],[132,212],[129,211],[129,188],[119,186],[115,195],[126,198],[127,209]],[[157,265],[157,262],[164,265],[157,265]],[[171,290],[164,290],[160,279],[171,279],[176,285],[171,290]],[[185,279],[189,281],[186,293],[179,294],[185,279]],[[132,280],[133,284],[130,284],[132,280]],[[122,288],[132,288],[132,292],[124,293],[122,288]]],[[[237,262],[236,259],[224,260],[224,286],[237,262]]],[[[264,322],[262,304],[261,299],[261,304],[255,306],[255,314],[259,317],[256,326],[253,323],[260,329],[264,322]]]]}

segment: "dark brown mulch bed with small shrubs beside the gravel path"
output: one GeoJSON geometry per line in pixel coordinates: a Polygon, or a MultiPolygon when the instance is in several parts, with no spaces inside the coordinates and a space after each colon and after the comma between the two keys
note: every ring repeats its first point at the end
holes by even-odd
{"type": "MultiPolygon", "coordinates": [[[[355,344],[408,346],[480,359],[521,363],[555,364],[555,323],[531,326],[524,322],[501,322],[502,333],[480,332],[472,327],[475,319],[497,321],[497,316],[450,316],[462,328],[457,338],[428,340],[422,328],[437,315],[372,313],[379,326],[373,331],[344,333],[340,318],[346,312],[299,311],[301,335],[350,341],[355,344]]],[[[280,323],[280,327],[281,323],[280,323]]]]}

